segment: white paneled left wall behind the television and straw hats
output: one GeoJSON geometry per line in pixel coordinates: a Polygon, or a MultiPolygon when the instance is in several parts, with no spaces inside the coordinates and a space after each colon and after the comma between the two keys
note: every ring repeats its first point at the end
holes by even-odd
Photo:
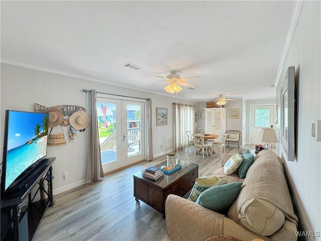
{"type": "MultiPolygon", "coordinates": [[[[96,89],[99,92],[135,96],[152,99],[152,135],[154,157],[173,151],[173,102],[194,104],[173,98],[124,87],[93,82],[85,79],[64,76],[15,65],[1,64],[1,156],[3,150],[3,129],[6,109],[34,111],[34,104],[47,107],[55,105],[79,105],[87,109],[86,94],[83,89],[96,89]],[[168,108],[168,125],[156,127],[156,107],[168,108]],[[163,148],[161,148],[161,145],[163,148]]],[[[48,157],[56,157],[53,164],[54,194],[83,184],[86,175],[88,130],[77,132],[74,142],[69,143],[69,127],[63,127],[66,146],[48,147],[48,157]],[[68,178],[63,172],[68,171],[68,178]]],[[[61,132],[55,127],[53,133],[61,132]]]]}

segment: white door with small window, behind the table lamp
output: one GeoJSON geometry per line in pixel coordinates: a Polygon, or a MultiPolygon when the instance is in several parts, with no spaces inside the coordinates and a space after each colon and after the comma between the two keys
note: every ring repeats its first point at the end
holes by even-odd
{"type": "Polygon", "coordinates": [[[251,144],[265,144],[259,140],[261,129],[274,127],[274,108],[272,105],[251,106],[251,144]]]}

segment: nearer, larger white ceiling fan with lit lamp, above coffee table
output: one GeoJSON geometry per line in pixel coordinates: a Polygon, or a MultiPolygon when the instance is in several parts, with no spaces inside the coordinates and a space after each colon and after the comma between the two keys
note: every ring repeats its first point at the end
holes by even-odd
{"type": "Polygon", "coordinates": [[[199,76],[194,76],[194,77],[187,77],[187,78],[181,78],[179,74],[177,74],[176,70],[172,70],[168,76],[155,76],[157,78],[162,78],[166,79],[166,82],[160,82],[160,83],[155,83],[155,84],[169,84],[168,86],[165,87],[165,90],[171,94],[180,92],[182,90],[182,86],[188,87],[189,89],[196,89],[199,86],[195,84],[190,84],[187,83],[187,81],[193,80],[193,78],[200,78],[199,76]]]}

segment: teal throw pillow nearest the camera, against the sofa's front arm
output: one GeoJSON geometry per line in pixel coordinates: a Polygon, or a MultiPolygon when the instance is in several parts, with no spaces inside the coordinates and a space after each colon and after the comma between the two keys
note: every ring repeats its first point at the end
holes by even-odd
{"type": "Polygon", "coordinates": [[[241,190],[241,182],[227,183],[206,189],[195,203],[215,212],[226,214],[241,190]]]}

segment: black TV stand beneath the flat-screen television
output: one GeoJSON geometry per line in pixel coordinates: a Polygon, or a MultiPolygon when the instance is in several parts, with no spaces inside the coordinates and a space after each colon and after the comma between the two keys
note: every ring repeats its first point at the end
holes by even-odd
{"type": "MultiPolygon", "coordinates": [[[[47,206],[54,205],[52,192],[52,164],[55,157],[46,158],[35,165],[27,179],[22,179],[19,188],[6,192],[1,198],[1,241],[32,240],[47,206]],[[48,190],[45,189],[45,181],[48,190]],[[32,190],[36,193],[32,197],[32,190]],[[40,200],[35,201],[40,192],[40,200]],[[47,194],[47,198],[46,198],[47,194]],[[22,207],[28,197],[28,205],[22,207]]],[[[33,192],[34,193],[34,192],[33,192]]]]}

